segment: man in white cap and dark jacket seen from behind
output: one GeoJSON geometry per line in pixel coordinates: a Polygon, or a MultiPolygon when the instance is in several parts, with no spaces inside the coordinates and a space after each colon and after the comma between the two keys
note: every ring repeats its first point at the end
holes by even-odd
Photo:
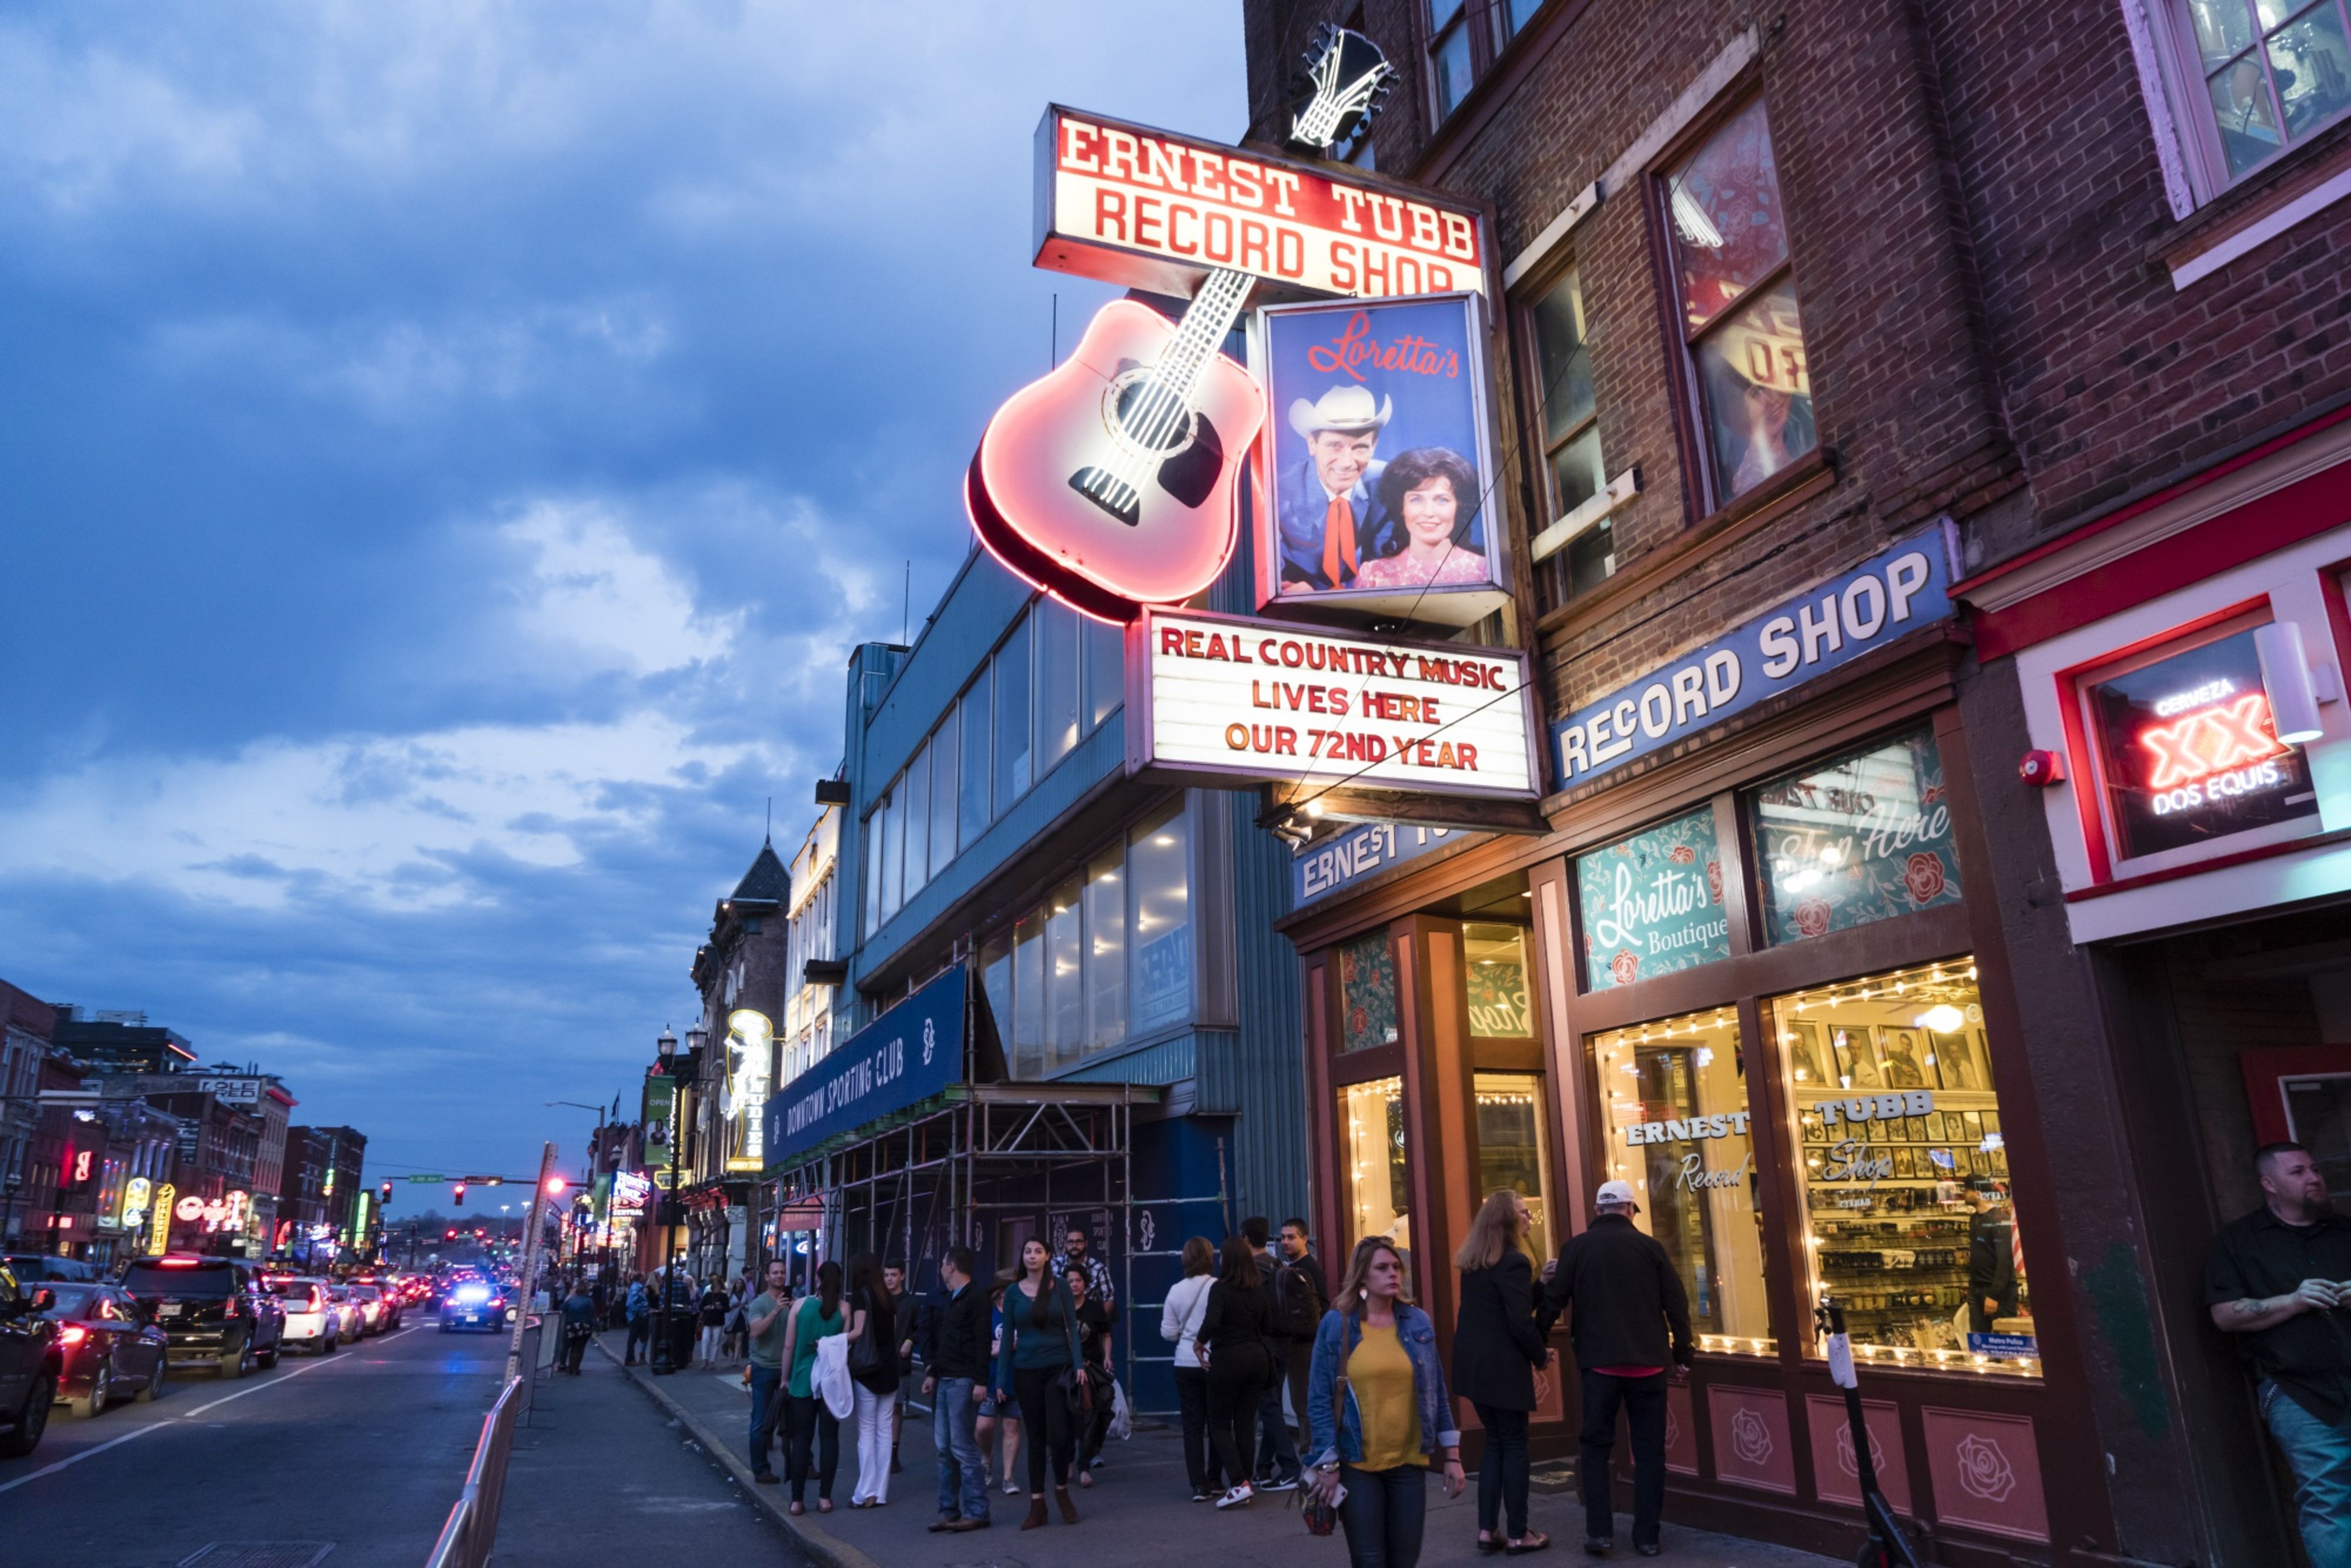
{"type": "Polygon", "coordinates": [[[1615,1495],[1608,1453],[1615,1413],[1632,1427],[1632,1549],[1657,1556],[1657,1516],[1665,1512],[1665,1368],[1690,1368],[1690,1298],[1665,1248],[1632,1218],[1641,1213],[1632,1182],[1601,1182],[1592,1225],[1559,1248],[1559,1267],[1542,1286],[1535,1328],[1552,1331],[1573,1312],[1568,1340],[1585,1387],[1585,1429],[1578,1476],[1585,1493],[1585,1552],[1615,1544],[1615,1495]]]}

